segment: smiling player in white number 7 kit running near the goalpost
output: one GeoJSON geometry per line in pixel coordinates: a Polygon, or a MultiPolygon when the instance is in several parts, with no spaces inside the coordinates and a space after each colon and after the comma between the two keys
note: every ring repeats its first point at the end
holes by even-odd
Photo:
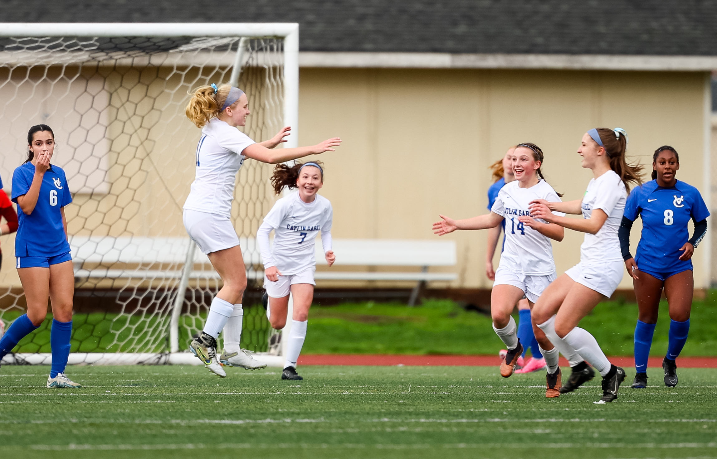
{"type": "Polygon", "coordinates": [[[288,316],[289,294],[293,295],[293,317],[286,347],[282,380],[303,380],[296,373],[296,361],[306,337],[309,308],[313,301],[314,243],[319,231],[328,266],[336,261],[331,250],[333,209],[328,199],[318,194],[323,186],[320,163],[293,166],[277,165],[271,178],[277,194],[283,188],[298,192],[280,198],[265,216],[257,231],[257,242],[264,262],[264,288],[267,291],[267,315],[274,329],[284,328],[288,316]],[[274,231],[274,244],[269,233],[274,231]]]}

